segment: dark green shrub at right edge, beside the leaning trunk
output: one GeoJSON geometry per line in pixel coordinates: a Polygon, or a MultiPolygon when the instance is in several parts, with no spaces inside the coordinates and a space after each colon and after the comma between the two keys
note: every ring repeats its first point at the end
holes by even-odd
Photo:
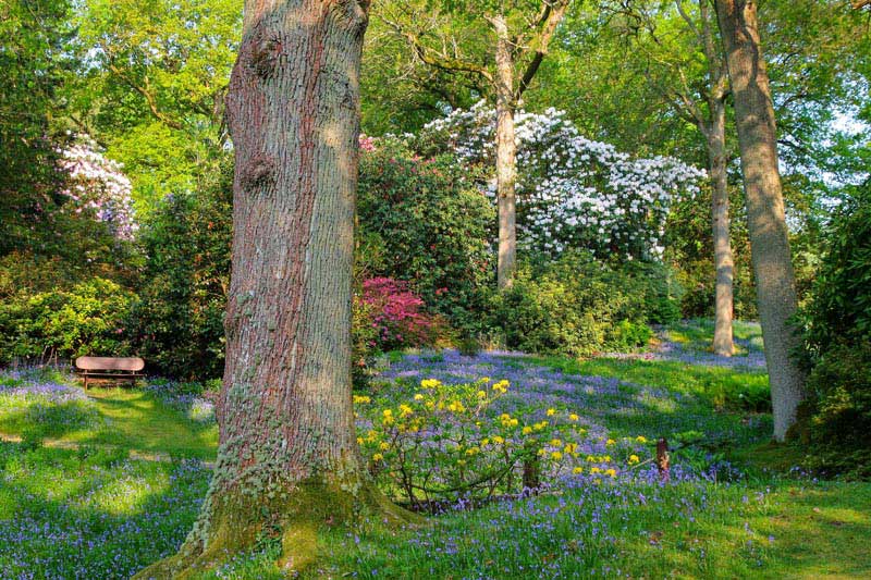
{"type": "Polygon", "coordinates": [[[871,477],[871,184],[832,219],[827,251],[800,313],[808,399],[793,434],[811,467],[871,477]]]}

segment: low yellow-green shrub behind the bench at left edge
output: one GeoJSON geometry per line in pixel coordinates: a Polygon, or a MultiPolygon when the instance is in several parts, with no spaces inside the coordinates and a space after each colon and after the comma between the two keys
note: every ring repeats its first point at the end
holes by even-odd
{"type": "Polygon", "coordinates": [[[0,361],[124,354],[124,323],[134,298],[114,282],[97,277],[70,291],[7,299],[0,303],[0,361]]]}

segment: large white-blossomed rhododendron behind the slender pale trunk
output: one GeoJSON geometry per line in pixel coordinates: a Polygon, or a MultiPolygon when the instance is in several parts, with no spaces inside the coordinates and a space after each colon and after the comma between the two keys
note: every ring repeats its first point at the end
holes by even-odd
{"type": "MultiPolygon", "coordinates": [[[[450,150],[461,161],[494,165],[495,112],[483,101],[424,127],[419,150],[450,150]]],[[[657,258],[677,196],[695,195],[706,172],[671,157],[633,159],[587,139],[563,111],[515,114],[517,229],[522,246],[555,255],[657,258]]],[[[432,152],[432,151],[429,151],[432,152]]],[[[486,184],[495,193],[495,180],[486,184]]]]}

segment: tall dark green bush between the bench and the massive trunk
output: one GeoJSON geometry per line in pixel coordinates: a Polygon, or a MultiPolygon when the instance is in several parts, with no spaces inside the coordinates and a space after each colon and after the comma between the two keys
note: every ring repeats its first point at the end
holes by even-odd
{"type": "Polygon", "coordinates": [[[223,372],[231,180],[228,165],[197,192],[167,196],[142,229],[147,262],[131,337],[149,365],[179,379],[223,372]]]}

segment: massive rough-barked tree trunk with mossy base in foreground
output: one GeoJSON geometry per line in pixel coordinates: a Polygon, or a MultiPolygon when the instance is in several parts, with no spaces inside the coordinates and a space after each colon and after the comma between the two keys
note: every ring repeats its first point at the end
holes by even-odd
{"type": "Polygon", "coordinates": [[[316,557],[318,530],[408,515],[375,488],[351,396],[358,73],[368,0],[246,0],[228,97],[235,146],[233,270],[220,445],[179,554],[139,578],[185,578],[280,539],[316,557]]]}

